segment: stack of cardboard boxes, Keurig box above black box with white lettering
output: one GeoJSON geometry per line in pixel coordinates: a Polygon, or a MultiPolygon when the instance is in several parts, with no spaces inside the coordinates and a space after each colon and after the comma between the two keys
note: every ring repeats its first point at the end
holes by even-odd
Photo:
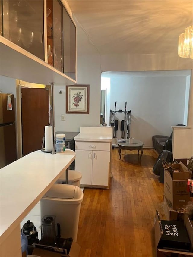
{"type": "Polygon", "coordinates": [[[187,182],[191,172],[182,162],[173,163],[171,167],[164,170],[166,220],[161,220],[158,212],[154,219],[156,256],[190,257],[193,256],[193,227],[184,207],[190,201],[187,182]]]}

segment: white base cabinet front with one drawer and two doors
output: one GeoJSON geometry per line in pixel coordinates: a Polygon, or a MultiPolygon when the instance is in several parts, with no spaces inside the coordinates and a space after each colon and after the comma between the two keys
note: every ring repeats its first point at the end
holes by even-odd
{"type": "Polygon", "coordinates": [[[81,185],[109,186],[110,142],[75,142],[75,170],[82,173],[81,185]]]}

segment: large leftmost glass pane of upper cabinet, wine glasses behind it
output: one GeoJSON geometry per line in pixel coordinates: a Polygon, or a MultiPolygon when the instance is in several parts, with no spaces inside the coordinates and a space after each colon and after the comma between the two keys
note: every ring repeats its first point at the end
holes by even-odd
{"type": "Polygon", "coordinates": [[[44,60],[43,0],[4,0],[3,36],[44,60]]]}

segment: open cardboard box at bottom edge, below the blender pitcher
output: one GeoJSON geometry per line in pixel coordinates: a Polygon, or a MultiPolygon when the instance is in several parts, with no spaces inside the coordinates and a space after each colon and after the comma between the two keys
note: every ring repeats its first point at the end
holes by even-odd
{"type": "Polygon", "coordinates": [[[53,247],[53,251],[47,251],[45,249],[36,248],[34,244],[33,255],[40,257],[78,257],[80,252],[80,246],[76,242],[72,242],[69,254],[59,253],[56,247],[53,247]],[[57,251],[57,252],[55,252],[57,251]]]}

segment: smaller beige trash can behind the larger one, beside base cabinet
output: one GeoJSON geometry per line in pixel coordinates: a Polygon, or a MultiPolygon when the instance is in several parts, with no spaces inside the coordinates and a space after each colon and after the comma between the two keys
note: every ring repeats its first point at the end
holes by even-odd
{"type": "MultiPolygon", "coordinates": [[[[68,184],[80,187],[80,180],[82,173],[79,171],[68,170],[68,184]]],[[[57,184],[61,184],[66,181],[66,172],[63,172],[62,176],[56,181],[57,184]]]]}

